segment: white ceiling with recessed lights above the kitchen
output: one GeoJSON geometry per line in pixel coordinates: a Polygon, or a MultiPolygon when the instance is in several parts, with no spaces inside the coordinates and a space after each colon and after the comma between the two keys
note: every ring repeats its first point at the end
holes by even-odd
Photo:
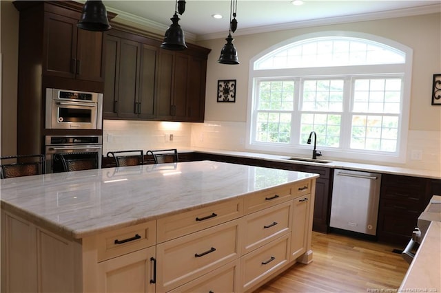
{"type": "MultiPolygon", "coordinates": [[[[303,0],[294,6],[291,0],[238,0],[238,30],[234,35],[268,32],[320,24],[402,17],[441,12],[441,0],[303,0]]],[[[226,36],[229,28],[230,1],[187,0],[179,24],[186,37],[215,39],[226,36]],[[222,14],[214,19],[212,14],[222,14]]],[[[104,0],[108,11],[119,14],[117,19],[136,21],[165,30],[172,23],[174,0],[115,1],[104,0]]]]}

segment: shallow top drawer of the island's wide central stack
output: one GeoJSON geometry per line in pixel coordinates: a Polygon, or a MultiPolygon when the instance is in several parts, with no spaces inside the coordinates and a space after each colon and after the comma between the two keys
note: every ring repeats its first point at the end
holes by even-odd
{"type": "Polygon", "coordinates": [[[209,228],[243,215],[243,199],[158,219],[158,243],[209,228]]]}

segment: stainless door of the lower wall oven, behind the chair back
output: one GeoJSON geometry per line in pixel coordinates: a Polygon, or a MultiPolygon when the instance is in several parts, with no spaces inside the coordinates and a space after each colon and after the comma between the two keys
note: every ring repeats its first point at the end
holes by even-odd
{"type": "Polygon", "coordinates": [[[98,167],[101,168],[101,157],[103,155],[103,147],[101,145],[61,145],[45,146],[46,156],[46,173],[58,173],[63,171],[61,163],[54,162],[54,154],[56,153],[85,153],[85,158],[88,158],[88,153],[98,154],[98,167]]]}

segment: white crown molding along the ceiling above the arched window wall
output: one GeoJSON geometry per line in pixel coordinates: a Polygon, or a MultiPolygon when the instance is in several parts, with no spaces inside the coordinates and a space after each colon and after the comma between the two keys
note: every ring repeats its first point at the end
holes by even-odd
{"type": "MultiPolygon", "coordinates": [[[[310,28],[320,25],[334,25],[341,23],[354,23],[360,21],[374,21],[380,19],[393,19],[397,17],[411,17],[422,14],[432,14],[441,12],[441,3],[420,6],[416,8],[403,8],[399,10],[388,10],[382,12],[372,12],[365,14],[354,14],[345,17],[329,17],[325,19],[311,19],[308,21],[296,21],[291,23],[282,23],[278,25],[265,25],[255,28],[245,28],[234,32],[234,36],[243,36],[247,34],[259,34],[263,32],[276,32],[278,30],[293,30],[297,28],[310,28]]],[[[227,34],[225,32],[216,32],[213,34],[203,34],[196,36],[196,41],[205,41],[210,39],[222,39],[227,34]]]]}

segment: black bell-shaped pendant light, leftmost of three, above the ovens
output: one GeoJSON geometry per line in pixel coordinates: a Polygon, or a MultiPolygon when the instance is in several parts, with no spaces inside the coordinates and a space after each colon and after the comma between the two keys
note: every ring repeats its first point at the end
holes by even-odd
{"type": "Polygon", "coordinates": [[[112,27],[107,19],[107,11],[103,1],[85,1],[80,20],[76,24],[82,30],[92,30],[94,32],[104,32],[112,27]]]}

